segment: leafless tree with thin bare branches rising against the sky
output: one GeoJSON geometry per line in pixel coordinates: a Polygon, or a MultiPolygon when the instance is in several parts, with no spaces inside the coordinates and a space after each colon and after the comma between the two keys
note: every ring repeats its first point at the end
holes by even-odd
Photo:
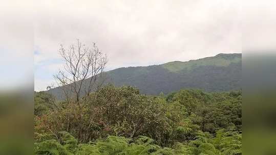
{"type": "Polygon", "coordinates": [[[88,95],[94,87],[98,75],[107,64],[107,56],[101,53],[95,43],[86,46],[77,40],[77,45],[72,44],[68,49],[60,45],[59,53],[65,65],[64,71],[54,74],[54,78],[61,86],[67,99],[74,99],[79,105],[81,92],[88,95]],[[90,80],[84,81],[90,77],[90,80]]]}

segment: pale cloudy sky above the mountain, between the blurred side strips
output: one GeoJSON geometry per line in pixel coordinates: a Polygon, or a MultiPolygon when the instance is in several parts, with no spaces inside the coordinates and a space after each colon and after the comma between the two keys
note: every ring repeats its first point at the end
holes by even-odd
{"type": "Polygon", "coordinates": [[[231,1],[59,1],[34,25],[35,90],[62,66],[60,44],[96,42],[107,69],[241,53],[241,6],[231,1]]]}

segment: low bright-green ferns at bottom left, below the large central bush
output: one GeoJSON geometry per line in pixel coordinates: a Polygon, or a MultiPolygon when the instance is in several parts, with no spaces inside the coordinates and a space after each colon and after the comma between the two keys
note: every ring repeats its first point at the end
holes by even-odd
{"type": "MultiPolygon", "coordinates": [[[[87,144],[76,145],[76,139],[63,133],[61,142],[46,140],[35,143],[36,154],[156,154],[163,149],[154,144],[154,140],[148,137],[139,136],[135,141],[124,137],[109,136],[104,140],[98,140],[87,144]],[[66,140],[65,140],[66,139],[66,140]],[[65,140],[65,141],[64,141],[65,140]],[[73,143],[72,143],[73,142],[73,143]],[[70,146],[70,147],[68,147],[70,146]],[[72,147],[74,146],[74,147],[72,147]]],[[[168,150],[165,149],[167,152],[168,150]]],[[[158,153],[159,154],[159,153],[158,153]]]]}

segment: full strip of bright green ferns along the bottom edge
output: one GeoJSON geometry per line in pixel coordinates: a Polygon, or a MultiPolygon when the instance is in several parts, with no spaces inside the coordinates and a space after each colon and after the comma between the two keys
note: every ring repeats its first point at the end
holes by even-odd
{"type": "Polygon", "coordinates": [[[216,137],[208,133],[199,132],[195,140],[188,143],[178,143],[173,148],[161,147],[154,140],[145,136],[139,136],[136,140],[124,137],[109,136],[96,142],[77,144],[68,133],[63,132],[60,142],[57,140],[45,140],[35,143],[35,154],[241,154],[241,135],[237,133],[217,132],[216,137]]]}

